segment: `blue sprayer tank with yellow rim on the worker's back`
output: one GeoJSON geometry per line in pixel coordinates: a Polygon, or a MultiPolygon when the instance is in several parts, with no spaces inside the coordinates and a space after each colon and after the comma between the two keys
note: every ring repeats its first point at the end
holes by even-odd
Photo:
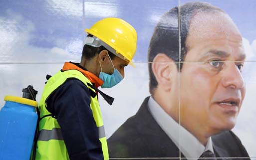
{"type": "Polygon", "coordinates": [[[0,110],[0,160],[29,160],[35,157],[39,110],[33,86],[21,97],[5,96],[0,110]],[[32,150],[34,142],[34,147],[32,150]]]}

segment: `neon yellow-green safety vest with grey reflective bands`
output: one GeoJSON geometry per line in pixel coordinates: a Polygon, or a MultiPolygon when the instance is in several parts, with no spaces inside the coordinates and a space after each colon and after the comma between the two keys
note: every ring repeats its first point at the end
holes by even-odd
{"type": "MultiPolygon", "coordinates": [[[[88,86],[88,84],[92,85],[89,79],[85,77],[80,71],[74,69],[59,71],[47,81],[42,93],[41,100],[39,102],[41,120],[39,124],[39,137],[36,146],[36,160],[69,160],[60,126],[55,118],[49,116],[51,113],[46,109],[47,98],[68,78],[76,78],[80,80],[90,90],[95,92],[93,88],[88,86]]],[[[99,131],[99,140],[101,142],[104,160],[108,160],[109,156],[107,139],[105,136],[98,99],[95,95],[94,97],[90,97],[90,108],[92,110],[93,118],[99,131]]]]}

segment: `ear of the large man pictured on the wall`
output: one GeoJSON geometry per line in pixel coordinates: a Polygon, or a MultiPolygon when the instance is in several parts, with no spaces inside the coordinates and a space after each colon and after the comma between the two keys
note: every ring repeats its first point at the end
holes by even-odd
{"type": "Polygon", "coordinates": [[[158,82],[158,88],[168,92],[171,90],[175,73],[177,72],[175,62],[164,53],[159,53],[153,59],[152,71],[158,82]]]}

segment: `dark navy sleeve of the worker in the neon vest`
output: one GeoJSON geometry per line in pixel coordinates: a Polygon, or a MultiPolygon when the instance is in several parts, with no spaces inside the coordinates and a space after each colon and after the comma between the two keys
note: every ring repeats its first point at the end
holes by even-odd
{"type": "Polygon", "coordinates": [[[90,102],[89,89],[77,79],[68,79],[46,101],[60,125],[70,160],[104,159],[90,102]]]}

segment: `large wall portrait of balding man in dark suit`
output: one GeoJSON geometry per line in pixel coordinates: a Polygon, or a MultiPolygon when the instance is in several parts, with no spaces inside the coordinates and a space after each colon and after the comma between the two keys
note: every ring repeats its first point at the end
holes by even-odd
{"type": "Polygon", "coordinates": [[[248,158],[231,131],[246,94],[245,58],[241,33],[221,8],[170,9],[148,49],[151,96],[108,139],[110,158],[248,158]]]}

